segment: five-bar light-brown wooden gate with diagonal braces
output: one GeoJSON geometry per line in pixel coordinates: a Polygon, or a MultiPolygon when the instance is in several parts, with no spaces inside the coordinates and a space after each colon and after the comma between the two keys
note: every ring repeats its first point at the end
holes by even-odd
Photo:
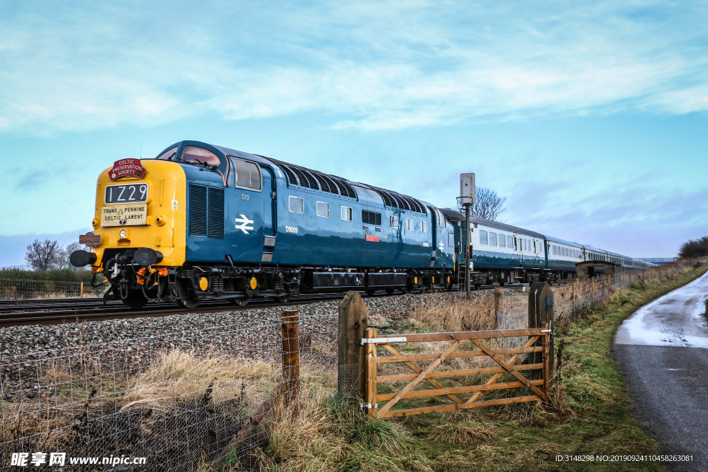
{"type": "MultiPolygon", "coordinates": [[[[467,408],[479,408],[481,406],[506,405],[508,403],[522,403],[526,401],[544,401],[550,403],[548,395],[549,389],[549,345],[551,340],[551,330],[549,323],[545,322],[541,328],[529,328],[518,330],[494,330],[494,331],[462,331],[457,333],[423,333],[404,334],[396,336],[379,337],[375,329],[366,331],[366,338],[362,339],[365,345],[365,372],[366,372],[366,403],[369,415],[372,418],[390,418],[393,416],[419,415],[421,413],[432,413],[440,411],[464,410],[467,408]],[[512,347],[504,349],[493,349],[489,347],[489,341],[501,338],[528,338],[523,347],[512,347]],[[458,348],[469,340],[475,347],[474,350],[459,351],[458,348]],[[452,345],[442,352],[426,354],[402,354],[396,350],[396,343],[418,343],[418,342],[452,341],[452,345]],[[377,346],[382,347],[387,355],[379,355],[377,346]],[[541,355],[531,354],[539,352],[541,355]],[[526,364],[517,364],[523,355],[526,356],[526,364]],[[507,357],[510,356],[510,357],[507,357]],[[496,367],[483,367],[478,369],[459,369],[437,372],[440,364],[445,359],[455,359],[461,357],[489,357],[493,359],[496,367]],[[538,358],[540,357],[540,359],[538,358]],[[416,362],[430,361],[426,367],[420,367],[416,362]],[[538,362],[540,361],[540,362],[538,362]],[[411,369],[412,374],[378,375],[377,366],[399,362],[411,369]],[[524,376],[522,372],[527,372],[524,376]],[[493,374],[484,384],[474,384],[467,386],[445,386],[441,379],[476,377],[485,374],[493,374]],[[505,374],[513,376],[510,381],[499,382],[505,374]],[[535,374],[535,375],[534,375],[535,374]],[[425,383],[423,383],[425,381],[425,383]],[[407,384],[395,393],[377,393],[379,384],[391,384],[394,382],[407,382],[407,384]],[[433,388],[421,389],[423,385],[429,384],[433,388]],[[418,389],[416,389],[416,387],[418,389]],[[482,397],[486,392],[527,388],[530,395],[510,396],[484,401],[482,397]],[[462,398],[460,395],[471,393],[469,398],[462,398]],[[454,403],[447,405],[435,405],[419,408],[405,408],[393,410],[396,403],[403,398],[420,398],[430,396],[446,396],[454,403]],[[386,402],[383,405],[382,402],[386,402]]],[[[527,392],[528,393],[528,392],[527,392]]]]}

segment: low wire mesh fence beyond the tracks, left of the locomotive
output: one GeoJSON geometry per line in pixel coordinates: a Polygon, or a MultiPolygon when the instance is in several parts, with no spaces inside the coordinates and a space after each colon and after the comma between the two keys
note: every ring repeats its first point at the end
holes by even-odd
{"type": "Polygon", "coordinates": [[[0,300],[95,298],[107,289],[108,284],[93,287],[89,282],[0,279],[0,300]]]}

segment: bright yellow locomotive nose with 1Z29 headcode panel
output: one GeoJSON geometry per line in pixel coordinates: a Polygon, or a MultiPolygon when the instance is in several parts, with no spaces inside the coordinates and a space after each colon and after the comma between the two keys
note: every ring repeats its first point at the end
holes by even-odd
{"type": "MultiPolygon", "coordinates": [[[[101,243],[94,246],[94,267],[106,261],[112,249],[149,248],[159,253],[161,266],[181,266],[185,261],[186,177],[175,162],[147,159],[142,178],[111,180],[105,169],[96,185],[96,215],[91,221],[101,243]]],[[[147,258],[146,260],[153,260],[147,258]]]]}

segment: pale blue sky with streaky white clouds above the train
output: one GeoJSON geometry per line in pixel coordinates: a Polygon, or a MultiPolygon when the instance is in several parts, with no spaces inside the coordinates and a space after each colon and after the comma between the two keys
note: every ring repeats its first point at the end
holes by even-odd
{"type": "Polygon", "coordinates": [[[0,266],[196,139],[634,257],[708,234],[705,1],[0,0],[0,266]]]}

